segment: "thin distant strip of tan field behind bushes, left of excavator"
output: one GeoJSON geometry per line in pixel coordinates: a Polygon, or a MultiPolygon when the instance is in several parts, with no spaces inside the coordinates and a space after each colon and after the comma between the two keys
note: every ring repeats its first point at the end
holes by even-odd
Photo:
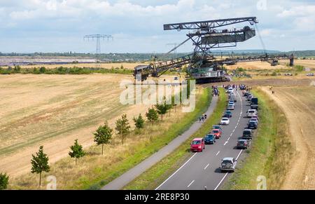
{"type": "Polygon", "coordinates": [[[22,68],[39,68],[39,67],[46,67],[47,69],[55,69],[57,67],[66,67],[66,68],[71,68],[71,67],[96,67],[99,66],[100,68],[104,69],[116,69],[116,68],[121,68],[122,66],[125,69],[134,69],[134,67],[137,67],[139,63],[101,63],[101,64],[95,64],[95,63],[79,63],[79,64],[36,64],[36,65],[24,65],[21,66],[22,68]]]}

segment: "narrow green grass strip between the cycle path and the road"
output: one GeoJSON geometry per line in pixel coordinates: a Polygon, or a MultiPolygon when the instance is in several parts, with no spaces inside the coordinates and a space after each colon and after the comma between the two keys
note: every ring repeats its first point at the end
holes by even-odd
{"type": "MultiPolygon", "coordinates": [[[[221,89],[221,93],[223,93],[223,89],[221,89]]],[[[215,125],[220,121],[222,113],[225,110],[227,100],[227,96],[225,94],[221,94],[214,113],[209,117],[209,120],[202,125],[202,128],[197,130],[190,139],[181,144],[181,146],[169,154],[169,156],[163,158],[162,161],[153,165],[152,168],[137,177],[137,179],[134,179],[134,181],[130,182],[130,184],[127,184],[124,189],[153,190],[164,182],[169,175],[172,175],[172,173],[183,165],[183,163],[191,156],[189,149],[191,140],[195,137],[204,137],[204,135],[207,135],[209,132],[209,127],[212,127],[212,125],[215,125]]]]}

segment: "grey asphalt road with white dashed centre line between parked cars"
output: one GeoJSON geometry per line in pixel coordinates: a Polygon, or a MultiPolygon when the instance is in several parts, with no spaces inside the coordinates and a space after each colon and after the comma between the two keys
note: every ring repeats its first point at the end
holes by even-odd
{"type": "MultiPolygon", "coordinates": [[[[243,151],[236,149],[237,140],[241,137],[248,118],[246,111],[248,102],[238,94],[235,111],[230,118],[230,125],[223,127],[223,135],[214,145],[207,145],[202,153],[192,154],[192,157],[176,170],[156,190],[208,190],[220,189],[230,173],[222,173],[221,160],[225,157],[239,159],[243,151]]],[[[210,131],[211,127],[209,127],[210,131]]]]}

